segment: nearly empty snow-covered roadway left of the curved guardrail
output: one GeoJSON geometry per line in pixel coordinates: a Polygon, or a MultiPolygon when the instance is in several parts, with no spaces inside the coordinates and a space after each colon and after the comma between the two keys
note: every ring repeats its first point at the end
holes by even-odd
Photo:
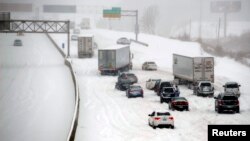
{"type": "Polygon", "coordinates": [[[1,141],[65,141],[74,98],[70,70],[45,34],[0,34],[1,141]]]}

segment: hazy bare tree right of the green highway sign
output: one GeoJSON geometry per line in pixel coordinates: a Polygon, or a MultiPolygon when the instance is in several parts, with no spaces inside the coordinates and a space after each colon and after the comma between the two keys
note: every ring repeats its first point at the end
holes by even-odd
{"type": "Polygon", "coordinates": [[[158,6],[149,6],[142,16],[142,26],[145,32],[155,34],[156,20],[158,18],[158,6]]]}

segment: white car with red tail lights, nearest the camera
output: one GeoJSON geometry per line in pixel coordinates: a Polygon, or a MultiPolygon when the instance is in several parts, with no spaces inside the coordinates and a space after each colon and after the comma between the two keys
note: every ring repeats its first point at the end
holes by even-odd
{"type": "Polygon", "coordinates": [[[148,125],[153,127],[170,127],[174,129],[174,117],[167,111],[153,111],[148,115],[148,125]]]}

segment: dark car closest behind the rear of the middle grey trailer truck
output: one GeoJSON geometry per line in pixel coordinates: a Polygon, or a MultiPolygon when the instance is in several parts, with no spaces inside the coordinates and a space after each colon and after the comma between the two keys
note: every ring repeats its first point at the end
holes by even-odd
{"type": "Polygon", "coordinates": [[[133,73],[123,72],[118,76],[118,82],[137,83],[138,78],[133,73]]]}

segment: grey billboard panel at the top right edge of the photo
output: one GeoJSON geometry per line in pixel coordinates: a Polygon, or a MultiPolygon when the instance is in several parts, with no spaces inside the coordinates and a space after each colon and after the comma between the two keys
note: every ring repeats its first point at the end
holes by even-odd
{"type": "Polygon", "coordinates": [[[233,13],[241,10],[241,1],[211,1],[211,12],[233,13]]]}

